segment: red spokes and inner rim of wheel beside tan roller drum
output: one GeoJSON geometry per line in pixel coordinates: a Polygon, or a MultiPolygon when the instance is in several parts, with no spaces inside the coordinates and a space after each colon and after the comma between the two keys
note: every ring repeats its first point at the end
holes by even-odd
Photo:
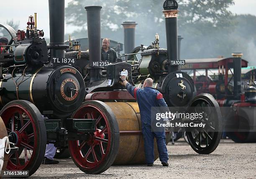
{"type": "Polygon", "coordinates": [[[108,119],[97,106],[93,104],[87,104],[80,107],[74,115],[74,118],[79,119],[97,119],[96,131],[90,134],[88,141],[69,141],[69,151],[79,166],[87,170],[95,170],[102,166],[102,163],[108,157],[111,145],[111,130],[108,123],[108,119]],[[101,125],[104,125],[103,129],[98,129],[101,125]],[[102,143],[107,143],[103,145],[102,143]],[[96,150],[95,148],[100,148],[96,150]],[[97,155],[96,155],[97,153],[97,155]],[[97,156],[101,156],[98,160],[97,156]]]}

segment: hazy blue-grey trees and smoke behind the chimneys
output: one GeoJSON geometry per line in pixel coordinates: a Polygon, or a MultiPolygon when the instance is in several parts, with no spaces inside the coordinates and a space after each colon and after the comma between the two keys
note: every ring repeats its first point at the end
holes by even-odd
{"type": "MultiPolygon", "coordinates": [[[[72,36],[87,37],[87,5],[101,5],[102,37],[123,42],[123,21],[136,21],[136,46],[150,45],[155,33],[160,47],[166,47],[164,0],[73,0],[66,8],[67,23],[79,27],[72,36]]],[[[228,7],[233,0],[179,0],[178,33],[182,40],[181,57],[213,58],[242,52],[244,59],[255,56],[256,17],[233,15],[228,7]],[[255,23],[254,23],[255,22],[255,23]],[[255,51],[255,50],[254,50],[255,51]]],[[[251,63],[252,64],[252,63],[251,63]]]]}

